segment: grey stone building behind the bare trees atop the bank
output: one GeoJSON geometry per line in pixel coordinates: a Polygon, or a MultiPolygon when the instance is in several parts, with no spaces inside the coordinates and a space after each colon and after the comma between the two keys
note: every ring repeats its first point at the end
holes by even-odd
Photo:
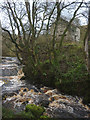
{"type": "MultiPolygon", "coordinates": [[[[68,25],[68,21],[60,18],[60,21],[58,22],[57,30],[56,30],[56,37],[57,39],[60,39],[65,28],[68,25]]],[[[53,34],[53,27],[54,24],[51,27],[51,34],[53,34]]],[[[68,31],[65,35],[66,40],[72,40],[72,41],[79,41],[80,40],[80,28],[77,25],[71,24],[68,31]]]]}

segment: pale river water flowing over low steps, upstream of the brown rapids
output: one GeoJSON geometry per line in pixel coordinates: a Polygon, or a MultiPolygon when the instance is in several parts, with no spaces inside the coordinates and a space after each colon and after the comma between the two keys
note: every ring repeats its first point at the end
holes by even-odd
{"type": "MultiPolygon", "coordinates": [[[[23,76],[22,66],[16,57],[2,57],[0,64],[0,87],[2,86],[2,94],[12,93],[19,90],[21,87],[27,86],[25,80],[20,80],[23,76]]],[[[29,85],[29,87],[34,87],[29,85]]]]}

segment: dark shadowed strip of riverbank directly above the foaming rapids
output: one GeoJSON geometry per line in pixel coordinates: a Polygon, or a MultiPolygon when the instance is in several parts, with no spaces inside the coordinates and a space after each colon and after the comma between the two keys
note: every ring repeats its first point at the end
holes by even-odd
{"type": "MultiPolygon", "coordinates": [[[[89,76],[88,76],[89,77],[89,76]]],[[[90,78],[90,77],[89,77],[90,78]]],[[[83,99],[83,103],[90,106],[90,80],[82,80],[78,82],[64,82],[60,83],[57,82],[56,85],[50,86],[48,83],[41,82],[40,83],[34,83],[29,78],[22,77],[21,80],[26,79],[28,84],[34,84],[37,88],[40,87],[51,87],[53,89],[58,89],[62,94],[72,95],[72,96],[78,96],[83,99]]]]}

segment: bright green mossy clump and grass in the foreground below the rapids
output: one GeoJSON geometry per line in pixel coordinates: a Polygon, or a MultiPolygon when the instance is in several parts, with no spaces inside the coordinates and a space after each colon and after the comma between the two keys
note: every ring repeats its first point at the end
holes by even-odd
{"type": "Polygon", "coordinates": [[[15,113],[15,111],[6,109],[3,107],[2,113],[3,113],[3,119],[33,119],[33,120],[40,120],[42,118],[48,118],[48,116],[43,115],[45,112],[44,108],[41,106],[36,106],[34,104],[28,104],[26,105],[26,109],[20,113],[15,113]]]}

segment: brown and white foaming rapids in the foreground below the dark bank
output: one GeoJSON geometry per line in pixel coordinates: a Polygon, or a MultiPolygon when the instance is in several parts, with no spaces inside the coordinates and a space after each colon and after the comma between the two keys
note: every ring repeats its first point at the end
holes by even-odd
{"type": "Polygon", "coordinates": [[[40,88],[39,91],[21,88],[18,93],[3,100],[3,106],[11,108],[14,113],[22,112],[29,104],[43,106],[50,118],[88,118],[90,111],[81,98],[62,95],[57,89],[49,87],[40,88]]]}

